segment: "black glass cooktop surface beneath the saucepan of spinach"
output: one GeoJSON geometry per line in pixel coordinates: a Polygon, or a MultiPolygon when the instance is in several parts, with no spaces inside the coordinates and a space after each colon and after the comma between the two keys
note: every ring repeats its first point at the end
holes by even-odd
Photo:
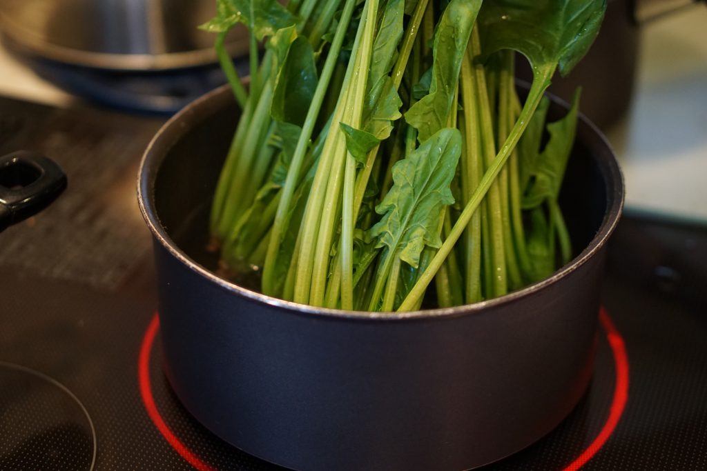
{"type": "MultiPolygon", "coordinates": [[[[0,155],[36,150],[69,175],[0,234],[0,470],[280,469],[201,427],[162,373],[135,198],[159,125],[0,97],[0,155]]],[[[707,470],[707,227],[626,217],[608,265],[588,392],[489,470],[707,470]]]]}

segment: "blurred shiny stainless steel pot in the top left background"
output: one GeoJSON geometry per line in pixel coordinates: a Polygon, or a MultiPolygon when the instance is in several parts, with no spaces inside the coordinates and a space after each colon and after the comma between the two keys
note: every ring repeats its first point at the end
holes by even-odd
{"type": "MultiPolygon", "coordinates": [[[[160,71],[216,62],[214,35],[197,25],[214,0],[2,0],[0,30],[35,56],[89,68],[160,71]]],[[[236,28],[231,54],[245,54],[236,28]]]]}

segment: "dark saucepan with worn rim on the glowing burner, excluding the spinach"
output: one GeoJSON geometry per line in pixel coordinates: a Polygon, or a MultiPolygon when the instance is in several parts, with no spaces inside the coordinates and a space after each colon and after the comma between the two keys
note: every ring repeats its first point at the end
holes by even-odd
{"type": "Polygon", "coordinates": [[[490,302],[373,316],[265,297],[204,268],[206,213],[237,118],[230,90],[203,97],[160,131],[140,175],[165,369],[199,422],[299,470],[464,470],[571,412],[592,373],[604,244],[623,203],[591,124],[580,123],[563,193],[583,216],[568,217],[580,253],[569,266],[490,302]]]}

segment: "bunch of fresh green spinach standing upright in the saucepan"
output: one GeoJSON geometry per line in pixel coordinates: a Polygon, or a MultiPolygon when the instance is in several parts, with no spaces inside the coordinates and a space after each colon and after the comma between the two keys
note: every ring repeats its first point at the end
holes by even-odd
{"type": "Polygon", "coordinates": [[[211,212],[225,268],[274,297],[394,311],[433,280],[453,306],[569,261],[558,196],[579,95],[547,123],[544,91],[587,52],[604,0],[216,3],[202,28],[242,108],[211,212]],[[223,45],[238,23],[249,90],[223,45]],[[523,104],[516,52],[534,73],[523,104]]]}

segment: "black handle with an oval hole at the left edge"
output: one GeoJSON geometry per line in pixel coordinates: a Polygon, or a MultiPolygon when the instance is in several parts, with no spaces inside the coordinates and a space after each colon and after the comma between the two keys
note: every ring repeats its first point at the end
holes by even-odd
{"type": "Polygon", "coordinates": [[[19,150],[0,157],[0,231],[46,208],[66,183],[59,165],[44,155],[19,150]]]}

